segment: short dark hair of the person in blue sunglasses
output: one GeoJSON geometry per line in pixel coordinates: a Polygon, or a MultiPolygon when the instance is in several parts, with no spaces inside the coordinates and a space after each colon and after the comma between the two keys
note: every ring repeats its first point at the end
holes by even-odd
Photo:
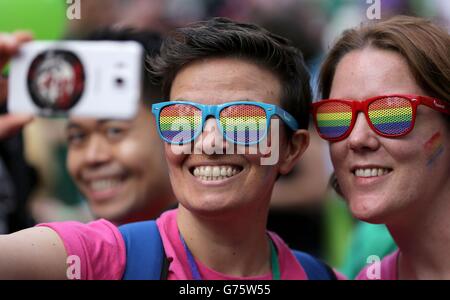
{"type": "Polygon", "coordinates": [[[244,58],[273,72],[282,86],[281,107],[300,128],[308,128],[311,88],[303,56],[287,39],[257,25],[213,18],[179,28],[163,41],[160,54],[150,59],[150,72],[169,99],[178,71],[209,57],[244,58]]]}

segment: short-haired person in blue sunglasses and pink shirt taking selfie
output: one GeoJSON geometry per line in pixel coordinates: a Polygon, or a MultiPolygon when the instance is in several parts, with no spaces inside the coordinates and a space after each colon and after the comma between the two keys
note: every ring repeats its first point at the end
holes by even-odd
{"type": "Polygon", "coordinates": [[[300,52],[260,27],[218,18],[177,30],[151,71],[170,100],[152,111],[178,209],[157,219],[156,234],[99,220],[0,236],[0,278],[335,279],[266,229],[275,181],[309,141],[300,52]],[[144,262],[158,255],[165,264],[149,270],[144,262]]]}

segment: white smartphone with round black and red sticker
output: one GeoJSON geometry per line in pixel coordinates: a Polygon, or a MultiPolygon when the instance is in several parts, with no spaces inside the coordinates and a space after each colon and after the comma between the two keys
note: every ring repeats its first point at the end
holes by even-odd
{"type": "Polygon", "coordinates": [[[26,43],[11,61],[8,111],[131,119],[141,97],[143,55],[134,41],[26,43]]]}

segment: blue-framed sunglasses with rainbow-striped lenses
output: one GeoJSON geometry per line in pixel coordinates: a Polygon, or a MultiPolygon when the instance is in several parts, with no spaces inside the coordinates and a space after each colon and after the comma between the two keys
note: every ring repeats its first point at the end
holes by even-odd
{"type": "Polygon", "coordinates": [[[152,105],[160,137],[170,144],[186,144],[203,131],[212,116],[223,137],[234,144],[254,145],[261,142],[270,127],[272,116],[279,116],[292,130],[297,121],[280,107],[253,101],[235,101],[205,105],[189,101],[169,101],[152,105]]]}

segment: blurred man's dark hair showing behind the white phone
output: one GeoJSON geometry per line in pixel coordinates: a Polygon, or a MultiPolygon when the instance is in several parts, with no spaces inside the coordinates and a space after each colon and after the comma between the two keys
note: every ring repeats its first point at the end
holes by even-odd
{"type": "Polygon", "coordinates": [[[142,100],[146,104],[161,101],[161,86],[156,84],[152,75],[147,71],[147,59],[159,54],[162,38],[159,33],[146,30],[135,30],[132,28],[107,27],[96,30],[86,37],[90,41],[135,41],[144,48],[144,60],[142,62],[142,100]]]}

